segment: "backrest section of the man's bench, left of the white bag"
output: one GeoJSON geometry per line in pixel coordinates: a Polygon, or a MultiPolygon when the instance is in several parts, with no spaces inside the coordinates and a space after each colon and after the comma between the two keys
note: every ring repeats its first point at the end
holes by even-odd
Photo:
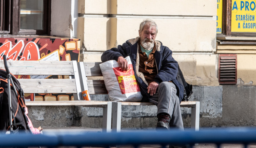
{"type": "Polygon", "coordinates": [[[81,70],[80,80],[81,88],[88,90],[89,94],[107,94],[102,73],[100,70],[101,62],[79,62],[78,67],[81,70]]]}

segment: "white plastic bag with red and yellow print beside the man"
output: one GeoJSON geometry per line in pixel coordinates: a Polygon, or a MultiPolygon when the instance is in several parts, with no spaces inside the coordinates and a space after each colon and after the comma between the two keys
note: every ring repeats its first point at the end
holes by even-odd
{"type": "Polygon", "coordinates": [[[117,61],[110,60],[100,64],[106,89],[111,101],[137,102],[141,101],[139,84],[134,76],[130,57],[125,58],[129,64],[128,71],[122,71],[117,61]]]}

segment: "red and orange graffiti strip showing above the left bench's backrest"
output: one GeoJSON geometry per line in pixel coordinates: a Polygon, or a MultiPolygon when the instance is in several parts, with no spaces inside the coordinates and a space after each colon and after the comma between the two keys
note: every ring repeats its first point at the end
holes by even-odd
{"type": "Polygon", "coordinates": [[[79,39],[50,38],[0,38],[0,59],[6,55],[11,60],[39,60],[59,50],[61,61],[79,61],[79,39]]]}

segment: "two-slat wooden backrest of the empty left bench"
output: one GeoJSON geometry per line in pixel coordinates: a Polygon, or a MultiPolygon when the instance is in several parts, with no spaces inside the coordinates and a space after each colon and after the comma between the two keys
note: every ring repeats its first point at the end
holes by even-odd
{"type": "MultiPolygon", "coordinates": [[[[18,79],[24,93],[73,93],[82,100],[76,61],[7,61],[13,75],[66,75],[69,79],[18,79]]],[[[0,69],[5,69],[0,61],[0,69]]]]}

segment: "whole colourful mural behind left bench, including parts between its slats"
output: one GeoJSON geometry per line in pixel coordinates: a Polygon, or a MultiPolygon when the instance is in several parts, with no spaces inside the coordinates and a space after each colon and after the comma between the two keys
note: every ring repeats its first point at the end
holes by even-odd
{"type": "MultiPolygon", "coordinates": [[[[80,39],[68,38],[0,38],[0,60],[6,55],[7,60],[51,60],[79,62],[80,39]]],[[[17,78],[35,78],[36,76],[16,75],[17,78]]],[[[38,77],[36,77],[38,78],[38,77]]],[[[66,78],[66,76],[47,76],[44,78],[66,78]]],[[[68,77],[67,77],[68,78],[68,77]]],[[[26,94],[25,99],[34,101],[35,96],[44,100],[45,95],[26,94]]],[[[69,100],[72,94],[69,95],[69,100]]]]}

